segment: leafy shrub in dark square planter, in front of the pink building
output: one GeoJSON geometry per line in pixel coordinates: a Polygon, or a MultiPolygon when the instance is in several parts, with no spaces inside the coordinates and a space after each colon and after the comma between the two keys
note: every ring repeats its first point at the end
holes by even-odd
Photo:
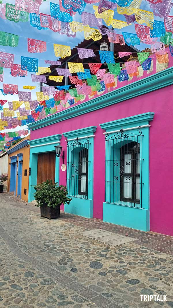
{"type": "Polygon", "coordinates": [[[34,189],[36,190],[34,198],[37,202],[35,206],[40,207],[42,217],[59,218],[60,205],[69,204],[72,200],[67,197],[66,186],[58,186],[58,183],[53,184],[51,180],[35,185],[34,189]]]}

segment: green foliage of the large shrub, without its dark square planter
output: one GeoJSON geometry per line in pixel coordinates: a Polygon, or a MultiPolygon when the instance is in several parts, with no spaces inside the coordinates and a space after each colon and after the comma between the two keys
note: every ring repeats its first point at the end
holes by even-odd
{"type": "Polygon", "coordinates": [[[34,198],[37,207],[42,206],[45,202],[48,207],[56,208],[57,205],[69,204],[72,200],[67,197],[66,186],[58,186],[58,183],[53,184],[51,180],[35,185],[34,189],[36,190],[34,198]]]}

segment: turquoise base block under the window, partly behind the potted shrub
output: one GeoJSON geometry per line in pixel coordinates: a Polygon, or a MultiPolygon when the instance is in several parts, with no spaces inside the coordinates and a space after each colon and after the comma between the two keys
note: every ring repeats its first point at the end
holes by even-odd
{"type": "Polygon", "coordinates": [[[72,198],[70,204],[64,205],[64,212],[70,213],[86,218],[93,217],[93,200],[90,199],[82,199],[77,197],[70,197],[72,198]]]}

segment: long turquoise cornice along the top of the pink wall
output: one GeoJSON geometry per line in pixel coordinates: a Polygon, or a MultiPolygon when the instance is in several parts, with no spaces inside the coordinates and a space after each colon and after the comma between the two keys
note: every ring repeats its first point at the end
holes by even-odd
{"type": "Polygon", "coordinates": [[[80,103],[79,105],[62,110],[61,112],[50,115],[42,120],[28,124],[28,127],[34,131],[35,129],[61,122],[78,115],[95,111],[119,102],[123,102],[127,99],[170,86],[173,84],[172,76],[173,67],[169,67],[164,71],[160,71],[154,75],[150,75],[94,99],[89,99],[87,102],[80,103]]]}

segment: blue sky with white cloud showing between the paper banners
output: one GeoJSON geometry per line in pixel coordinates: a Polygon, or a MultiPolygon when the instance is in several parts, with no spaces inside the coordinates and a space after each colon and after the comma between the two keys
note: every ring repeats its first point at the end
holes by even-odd
{"type": "MultiPolygon", "coordinates": [[[[166,0],[163,0],[166,1],[166,0]]],[[[59,4],[59,0],[52,0],[51,2],[59,4]]],[[[5,1],[3,0],[2,3],[11,3],[15,4],[15,0],[8,0],[5,1]]],[[[94,5],[98,5],[98,3],[95,3],[94,5]]],[[[142,0],[140,9],[142,10],[148,10],[152,11],[150,8],[149,2],[146,0],[142,0]]],[[[44,13],[44,14],[50,14],[50,0],[46,0],[42,2],[40,6],[39,12],[44,13]]],[[[92,7],[92,4],[87,4],[85,7],[85,12],[90,12],[94,14],[94,10],[92,7]]],[[[170,15],[173,15],[173,9],[170,12],[170,15]]],[[[123,15],[120,15],[116,12],[114,14],[115,19],[119,19],[122,21],[126,21],[125,17],[123,15]]],[[[163,19],[154,16],[155,20],[160,20],[163,21],[163,19]]],[[[78,12],[75,14],[73,17],[74,21],[82,22],[81,20],[81,15],[78,14],[78,12]]],[[[104,24],[104,22],[103,22],[104,24]]],[[[145,24],[144,24],[145,25],[145,24]]],[[[116,30],[116,29],[115,29],[116,30]]],[[[33,58],[38,58],[38,66],[40,67],[46,67],[46,64],[44,60],[54,60],[56,61],[58,58],[55,57],[54,55],[54,48],[53,48],[53,43],[55,44],[62,44],[62,45],[67,45],[70,46],[71,48],[75,47],[78,43],[83,41],[84,39],[84,33],[83,32],[77,32],[75,38],[67,37],[66,35],[61,35],[58,32],[53,32],[50,29],[47,30],[38,30],[35,27],[32,27],[30,25],[30,21],[28,22],[18,22],[15,23],[13,21],[9,21],[6,19],[0,18],[0,31],[5,31],[8,33],[16,34],[19,35],[19,42],[18,42],[18,47],[9,47],[9,46],[0,46],[0,51],[2,52],[7,52],[14,54],[14,63],[15,64],[21,64],[21,55],[26,56],[26,57],[33,57],[33,58]],[[27,51],[27,38],[32,38],[32,39],[39,39],[42,41],[46,42],[47,45],[47,51],[43,53],[29,53],[27,51]]],[[[131,32],[131,33],[136,33],[135,32],[135,27],[134,24],[131,26],[127,26],[122,29],[124,32],[131,32]]],[[[121,34],[121,30],[116,30],[118,34],[121,34]]],[[[136,48],[142,50],[145,47],[148,47],[148,45],[141,44],[139,47],[138,45],[135,46],[136,48]]],[[[10,69],[4,68],[4,80],[3,83],[11,83],[11,84],[18,84],[18,90],[19,91],[27,91],[23,90],[23,85],[33,85],[36,86],[34,90],[31,91],[32,95],[32,100],[36,99],[36,91],[40,91],[40,83],[32,82],[30,72],[28,72],[28,75],[26,77],[13,77],[10,75],[10,69]]],[[[0,88],[3,89],[3,83],[0,83],[0,88]]],[[[29,91],[29,90],[28,90],[29,91]]],[[[0,99],[7,99],[9,101],[12,100],[18,100],[18,95],[2,95],[0,91],[0,99]]],[[[4,105],[4,107],[8,108],[8,102],[4,105]]],[[[24,107],[24,106],[21,106],[24,107]]],[[[0,116],[1,118],[1,116],[0,116]]],[[[20,129],[25,129],[26,127],[21,127],[18,129],[13,129],[11,131],[16,131],[20,129]]],[[[6,130],[7,132],[7,130],[6,130]]]]}

